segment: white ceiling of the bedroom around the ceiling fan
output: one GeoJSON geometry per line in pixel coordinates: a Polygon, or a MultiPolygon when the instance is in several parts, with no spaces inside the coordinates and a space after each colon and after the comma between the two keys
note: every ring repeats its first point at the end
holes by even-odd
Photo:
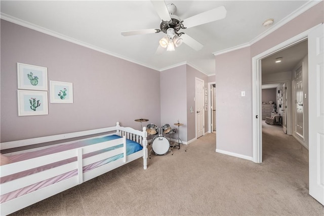
{"type": "MultiPolygon", "coordinates": [[[[204,45],[195,51],[182,44],[156,54],[165,33],[124,37],[121,31],[159,28],[150,1],[1,1],[1,18],[87,46],[156,70],[188,63],[206,75],[215,74],[215,55],[247,46],[284,25],[318,2],[314,1],[165,1],[181,19],[225,6],[225,19],[182,29],[204,45]],[[274,19],[272,26],[263,21],[274,19]]],[[[179,31],[179,32],[181,32],[179,31]]]]}

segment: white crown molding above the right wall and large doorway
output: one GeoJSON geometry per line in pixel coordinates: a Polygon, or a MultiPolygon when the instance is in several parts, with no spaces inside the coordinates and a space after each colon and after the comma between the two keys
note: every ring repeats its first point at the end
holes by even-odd
{"type": "Polygon", "coordinates": [[[286,16],[284,19],[278,21],[271,28],[268,28],[266,31],[264,31],[263,33],[259,34],[256,38],[252,39],[250,42],[245,43],[245,44],[241,44],[241,45],[238,45],[238,46],[235,46],[235,47],[230,47],[230,48],[225,49],[225,50],[213,52],[212,54],[214,56],[217,56],[217,55],[221,55],[221,54],[224,54],[224,53],[228,53],[228,52],[232,52],[232,51],[235,51],[235,50],[239,50],[239,49],[242,49],[242,48],[250,47],[251,45],[257,43],[258,41],[260,41],[261,39],[265,38],[267,35],[269,35],[273,31],[275,31],[278,28],[280,28],[281,26],[287,24],[291,20],[295,19],[297,16],[301,15],[302,13],[304,13],[305,11],[309,10],[310,8],[314,7],[315,5],[317,5],[318,3],[322,2],[322,1],[323,0],[308,1],[307,3],[305,3],[304,5],[302,5],[301,7],[299,7],[298,9],[296,9],[294,12],[292,12],[291,14],[289,14],[288,16],[286,16]]]}

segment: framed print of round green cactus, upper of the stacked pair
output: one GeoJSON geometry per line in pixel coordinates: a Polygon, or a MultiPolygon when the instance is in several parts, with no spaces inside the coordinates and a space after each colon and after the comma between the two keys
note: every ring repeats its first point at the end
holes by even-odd
{"type": "Polygon", "coordinates": [[[48,90],[47,67],[17,63],[18,89],[48,90]]]}

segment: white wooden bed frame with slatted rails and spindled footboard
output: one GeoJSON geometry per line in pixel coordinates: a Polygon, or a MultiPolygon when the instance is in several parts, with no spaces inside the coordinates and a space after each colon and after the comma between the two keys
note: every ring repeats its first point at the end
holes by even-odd
{"type": "MultiPolygon", "coordinates": [[[[68,158],[76,157],[77,161],[61,165],[55,168],[51,168],[45,171],[41,171],[38,173],[34,173],[32,175],[28,175],[22,178],[19,178],[14,181],[10,181],[4,184],[1,184],[1,195],[9,193],[10,191],[14,191],[20,188],[23,188],[27,185],[32,185],[34,183],[38,183],[40,181],[43,181],[43,179],[48,179],[53,176],[57,176],[59,174],[66,173],[70,170],[76,170],[77,169],[77,175],[64,179],[63,181],[60,181],[58,183],[55,183],[53,185],[44,187],[42,189],[38,189],[36,191],[30,192],[26,195],[19,196],[17,198],[14,198],[12,200],[9,200],[7,202],[3,202],[0,205],[0,214],[6,215],[10,214],[12,212],[15,212],[21,208],[24,208],[28,205],[31,205],[33,203],[36,203],[38,201],[41,201],[43,199],[46,199],[50,196],[53,196],[57,193],[60,193],[62,191],[65,191],[69,188],[72,188],[78,184],[82,184],[83,182],[88,181],[89,179],[92,179],[94,177],[97,177],[98,175],[101,175],[107,171],[110,171],[112,169],[115,169],[125,163],[129,163],[133,160],[136,160],[140,157],[143,157],[143,168],[147,169],[147,157],[148,157],[148,151],[147,151],[147,132],[146,127],[143,127],[143,131],[138,131],[130,127],[121,127],[119,125],[119,122],[116,123],[116,126],[113,127],[106,127],[101,129],[95,129],[90,131],[82,131],[82,132],[73,132],[73,133],[67,133],[67,134],[60,134],[60,135],[53,135],[53,136],[46,136],[46,137],[39,137],[39,138],[32,138],[32,139],[25,139],[25,140],[18,140],[18,141],[10,141],[10,142],[4,142],[0,143],[1,150],[3,149],[11,149],[16,147],[22,147],[22,146],[28,146],[28,145],[34,145],[37,143],[43,143],[48,141],[54,141],[54,140],[63,140],[67,138],[73,138],[78,136],[85,136],[85,135],[91,135],[91,134],[98,134],[98,133],[105,133],[110,132],[112,134],[117,134],[119,136],[123,136],[123,138],[120,138],[118,140],[111,140],[104,143],[97,143],[89,147],[83,147],[78,148],[74,150],[67,150],[60,153],[50,154],[47,156],[41,156],[29,160],[24,160],[16,163],[11,163],[7,165],[3,165],[0,168],[1,176],[7,176],[14,173],[18,173],[24,170],[36,168],[39,166],[47,165],[50,163],[58,162],[61,160],[65,160],[68,158]],[[115,133],[113,133],[115,131],[115,133]],[[126,155],[126,138],[132,139],[133,141],[139,142],[143,149],[141,151],[138,151],[136,153],[133,153],[129,156],[126,155]],[[113,147],[116,145],[123,144],[123,148],[118,148],[114,151],[113,154],[109,152],[105,152],[99,155],[95,155],[89,158],[83,159],[83,155],[91,152],[96,152],[108,147],[113,147]],[[118,154],[124,154],[123,158],[120,158],[118,160],[112,161],[110,163],[104,164],[102,166],[99,166],[95,169],[92,169],[90,171],[83,172],[83,167],[91,164],[91,162],[97,162],[101,161],[103,159],[108,158],[107,156],[114,156],[118,154]]],[[[76,140],[77,141],[77,140],[76,140]]],[[[62,142],[64,143],[64,142],[62,142]]],[[[44,148],[44,147],[42,147],[44,148]]],[[[24,150],[25,151],[25,150],[24,150]]],[[[24,152],[23,151],[23,152],[24,152]]],[[[8,154],[9,155],[9,154],[8,154]]]]}

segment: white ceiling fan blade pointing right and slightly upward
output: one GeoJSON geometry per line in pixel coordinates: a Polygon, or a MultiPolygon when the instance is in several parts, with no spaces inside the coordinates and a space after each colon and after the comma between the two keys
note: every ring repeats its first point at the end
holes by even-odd
{"type": "Polygon", "coordinates": [[[193,26],[202,25],[216,20],[224,19],[226,17],[226,9],[224,6],[214,8],[187,19],[183,20],[184,27],[191,28],[193,26]]]}

